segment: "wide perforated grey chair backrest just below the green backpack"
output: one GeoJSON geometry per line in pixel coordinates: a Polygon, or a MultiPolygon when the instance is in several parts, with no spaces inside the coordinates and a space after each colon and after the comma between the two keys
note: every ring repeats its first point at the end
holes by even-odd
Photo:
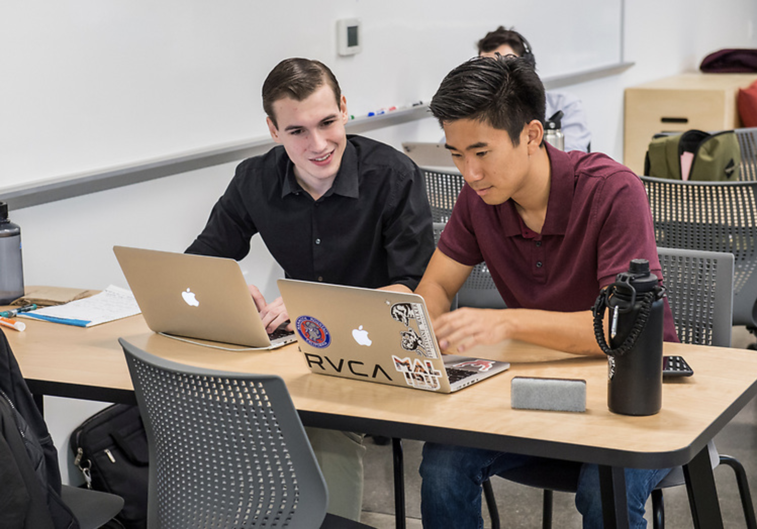
{"type": "Polygon", "coordinates": [[[757,181],[640,177],[657,246],[734,254],[735,325],[757,325],[757,181]]]}

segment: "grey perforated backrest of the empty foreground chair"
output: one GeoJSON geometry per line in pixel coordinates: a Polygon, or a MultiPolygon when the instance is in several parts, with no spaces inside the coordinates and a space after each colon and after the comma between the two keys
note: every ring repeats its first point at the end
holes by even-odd
{"type": "Polygon", "coordinates": [[[149,529],[319,527],[326,483],[282,379],[119,342],[148,435],[149,529]]]}

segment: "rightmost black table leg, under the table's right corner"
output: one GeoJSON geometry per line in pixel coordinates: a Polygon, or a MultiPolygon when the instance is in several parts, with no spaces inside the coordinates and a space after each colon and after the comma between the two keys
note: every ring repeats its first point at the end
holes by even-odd
{"type": "Polygon", "coordinates": [[[707,447],[684,465],[691,518],[696,529],[723,529],[723,516],[707,447]]]}

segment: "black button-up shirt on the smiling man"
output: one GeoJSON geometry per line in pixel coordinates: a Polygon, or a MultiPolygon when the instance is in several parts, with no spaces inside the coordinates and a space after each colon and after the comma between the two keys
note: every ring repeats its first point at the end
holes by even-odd
{"type": "Polygon", "coordinates": [[[284,147],[246,159],[186,250],[239,260],[259,233],[286,277],[415,289],[434,251],[422,171],[388,145],[347,136],[329,189],[313,200],[284,147]]]}

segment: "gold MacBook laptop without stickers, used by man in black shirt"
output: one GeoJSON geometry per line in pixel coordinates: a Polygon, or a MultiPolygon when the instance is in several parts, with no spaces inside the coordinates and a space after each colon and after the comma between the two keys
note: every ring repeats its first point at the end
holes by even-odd
{"type": "Polygon", "coordinates": [[[233,259],[126,246],[113,251],[156,333],[265,349],[296,341],[293,333],[266,333],[233,259]]]}

